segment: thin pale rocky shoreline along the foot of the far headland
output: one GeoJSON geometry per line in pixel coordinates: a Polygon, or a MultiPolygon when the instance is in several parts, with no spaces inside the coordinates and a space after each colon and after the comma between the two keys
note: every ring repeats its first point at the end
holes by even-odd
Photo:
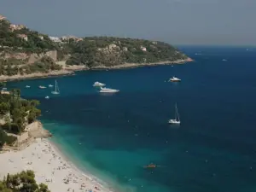
{"type": "MultiPolygon", "coordinates": [[[[106,66],[97,66],[97,67],[85,67],[85,66],[64,66],[63,69],[59,71],[51,71],[49,73],[32,73],[26,75],[0,75],[0,82],[8,82],[8,81],[16,81],[16,80],[25,80],[25,79],[44,79],[55,76],[70,76],[75,75],[75,72],[78,71],[97,71],[97,70],[115,70],[115,69],[129,69],[136,67],[154,67],[154,66],[162,66],[162,65],[173,65],[173,64],[183,64],[186,62],[194,61],[191,58],[186,60],[177,60],[177,61],[159,61],[159,62],[151,62],[151,63],[124,63],[113,67],[106,66]]],[[[60,61],[61,62],[61,61],[60,61]]]]}

